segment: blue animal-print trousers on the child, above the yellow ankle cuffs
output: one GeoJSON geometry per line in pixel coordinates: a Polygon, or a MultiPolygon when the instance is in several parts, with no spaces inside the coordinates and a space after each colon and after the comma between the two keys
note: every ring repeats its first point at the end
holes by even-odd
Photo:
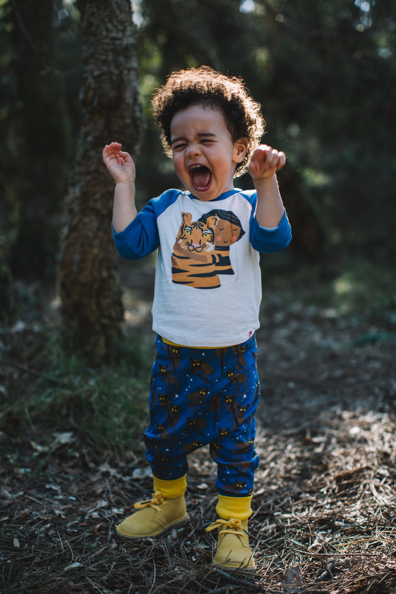
{"type": "Polygon", "coordinates": [[[255,337],[240,345],[199,349],[156,337],[151,373],[146,457],[153,474],[172,481],[188,471],[187,455],[210,445],[221,495],[252,494],[259,457],[254,449],[260,398],[255,337]]]}

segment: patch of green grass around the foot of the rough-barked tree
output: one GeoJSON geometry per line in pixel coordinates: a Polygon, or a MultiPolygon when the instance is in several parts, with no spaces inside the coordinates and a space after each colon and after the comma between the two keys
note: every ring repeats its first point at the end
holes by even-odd
{"type": "Polygon", "coordinates": [[[12,400],[2,412],[2,423],[18,419],[26,429],[43,432],[49,444],[55,443],[49,435],[71,432],[71,450],[88,448],[98,459],[109,451],[123,456],[132,448],[141,453],[148,419],[147,362],[152,355],[139,349],[135,338],[126,340],[120,352],[118,364],[90,369],[77,357],[65,356],[52,331],[42,355],[47,359],[45,373],[10,391],[12,400]],[[53,380],[47,381],[48,376],[53,380]]]}

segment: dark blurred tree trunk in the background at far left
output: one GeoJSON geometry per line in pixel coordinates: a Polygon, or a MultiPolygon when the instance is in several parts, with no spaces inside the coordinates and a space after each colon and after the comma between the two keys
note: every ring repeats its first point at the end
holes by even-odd
{"type": "Polygon", "coordinates": [[[11,268],[30,279],[54,278],[68,166],[64,91],[51,67],[54,1],[24,0],[13,5],[17,101],[10,111],[17,133],[11,160],[18,216],[11,268]]]}

